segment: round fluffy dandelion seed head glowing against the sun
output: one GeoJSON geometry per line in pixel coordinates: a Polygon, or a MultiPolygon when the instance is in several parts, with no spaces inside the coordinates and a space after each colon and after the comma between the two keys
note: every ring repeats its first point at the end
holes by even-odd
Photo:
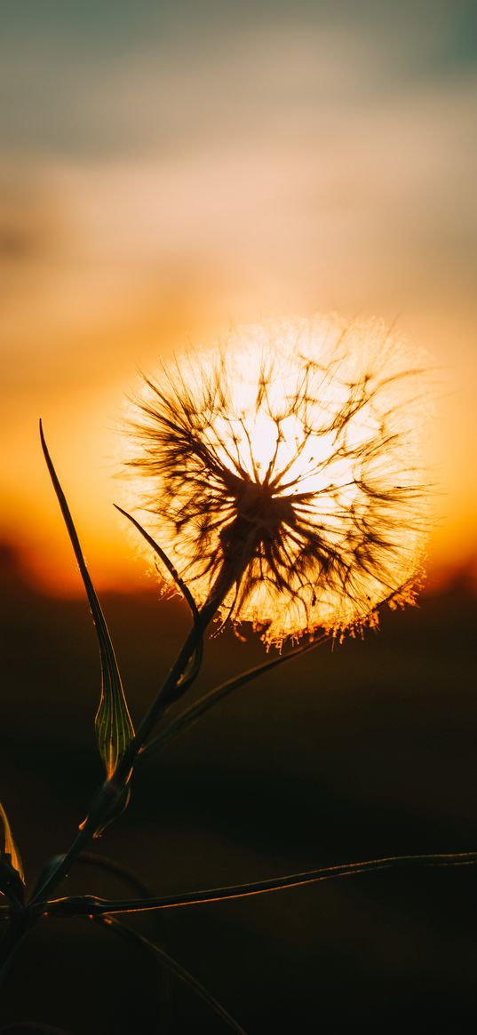
{"type": "Polygon", "coordinates": [[[199,607],[279,645],[412,598],[424,368],[378,321],[320,317],[242,328],[144,379],[128,463],[199,607]]]}

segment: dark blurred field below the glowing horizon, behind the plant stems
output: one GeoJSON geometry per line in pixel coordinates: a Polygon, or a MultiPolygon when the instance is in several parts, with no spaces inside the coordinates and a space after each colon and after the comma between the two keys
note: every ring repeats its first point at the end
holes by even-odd
{"type": "MultiPolygon", "coordinates": [[[[107,597],[138,719],[187,627],[178,600],[107,597]]],[[[32,878],[65,851],[101,779],[99,689],[86,603],[14,579],[2,594],[1,798],[32,878]]],[[[94,850],[151,893],[328,863],[477,848],[475,621],[455,584],[380,632],[320,647],[238,690],[160,758],[94,850]]],[[[251,638],[208,641],[197,693],[265,659],[251,638]]],[[[274,1031],[460,1031],[477,1022],[477,868],[352,877],[144,917],[248,1035],[274,1031]]],[[[80,864],[64,886],[130,894],[80,864]]],[[[87,921],[40,924],[19,951],[2,1024],[74,1035],[225,1032],[141,950],[87,921]]],[[[28,1031],[25,1028],[25,1031],[28,1031]]]]}

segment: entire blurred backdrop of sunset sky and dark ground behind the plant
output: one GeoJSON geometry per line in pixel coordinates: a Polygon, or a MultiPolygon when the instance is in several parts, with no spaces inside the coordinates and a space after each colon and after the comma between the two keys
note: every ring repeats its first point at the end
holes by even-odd
{"type": "MultiPolygon", "coordinates": [[[[184,345],[329,310],[396,322],[431,357],[421,607],[223,704],[145,767],[100,850],[158,892],[475,848],[475,59],[472,0],[0,3],[0,793],[30,876],[100,778],[94,637],[38,416],[138,717],[187,616],[112,506],[124,396],[184,345]]],[[[202,689],[261,657],[213,641],[202,689]]],[[[383,875],[180,911],[160,931],[250,1035],[284,1018],[455,1030],[476,1019],[470,901],[472,868],[383,875]]],[[[6,1022],[167,1030],[144,987],[138,1006],[140,955],[53,934],[25,948],[28,1009],[19,955],[6,1022]]],[[[171,1032],[221,1030],[172,997],[171,1032]]]]}

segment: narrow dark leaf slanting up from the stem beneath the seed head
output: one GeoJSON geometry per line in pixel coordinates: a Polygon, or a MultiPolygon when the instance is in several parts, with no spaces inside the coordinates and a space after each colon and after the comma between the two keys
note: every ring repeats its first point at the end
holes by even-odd
{"type": "Polygon", "coordinates": [[[310,650],[315,650],[320,644],[325,643],[330,640],[330,637],[320,637],[319,640],[314,640],[312,643],[304,644],[302,647],[297,647],[296,650],[289,651],[288,654],[280,654],[278,657],[272,658],[270,661],[264,661],[262,664],[256,666],[254,669],[247,669],[246,672],[242,672],[239,676],[235,676],[233,679],[228,679],[225,683],[220,683],[219,686],[214,687],[209,693],[206,693],[203,698],[196,702],[196,704],[190,705],[186,711],[178,715],[176,719],[165,727],[163,730],[158,733],[153,740],[146,745],[142,751],[142,758],[152,755],[157,751],[165,744],[173,740],[184,730],[187,730],[190,726],[198,721],[202,715],[213,708],[214,705],[218,704],[222,698],[228,697],[234,690],[239,689],[241,686],[245,686],[246,683],[251,683],[254,679],[258,679],[259,676],[265,675],[266,672],[271,672],[272,669],[278,668],[280,664],[285,664],[287,661],[291,661],[292,658],[298,657],[300,654],[306,654],[310,650]]]}

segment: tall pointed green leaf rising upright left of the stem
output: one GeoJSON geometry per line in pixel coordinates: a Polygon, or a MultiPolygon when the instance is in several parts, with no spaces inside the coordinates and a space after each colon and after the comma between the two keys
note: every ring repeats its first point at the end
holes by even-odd
{"type": "Polygon", "coordinates": [[[135,728],[130,719],[126,699],[124,697],[118,662],[116,660],[116,655],[105,616],[86,567],[80,540],[78,538],[77,530],[72,522],[65,495],[58,480],[47,443],[44,441],[41,421],[39,422],[39,434],[47,467],[60,504],[69,538],[71,540],[71,545],[74,551],[74,556],[78,561],[78,566],[80,568],[91,609],[94,627],[96,629],[101,661],[101,691],[99,706],[94,719],[94,727],[99,753],[105,763],[107,774],[111,777],[116,770],[119,760],[124,755],[124,751],[135,736],[135,728]]]}

